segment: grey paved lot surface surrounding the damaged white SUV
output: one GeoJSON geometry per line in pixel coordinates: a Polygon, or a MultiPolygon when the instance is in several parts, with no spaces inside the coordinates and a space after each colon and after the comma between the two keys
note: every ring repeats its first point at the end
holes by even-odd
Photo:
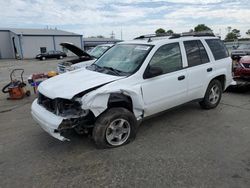
{"type": "MultiPolygon", "coordinates": [[[[13,68],[52,61],[0,61],[0,87],[13,68]]],[[[136,140],[98,150],[90,138],[61,142],[32,120],[35,98],[0,94],[0,187],[250,187],[250,91],[224,93],[214,110],[189,103],[142,123],[136,140]]]]}

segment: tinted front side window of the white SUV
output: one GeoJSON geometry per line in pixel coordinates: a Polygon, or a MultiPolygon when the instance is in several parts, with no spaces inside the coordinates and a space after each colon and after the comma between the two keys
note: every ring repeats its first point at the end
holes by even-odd
{"type": "Polygon", "coordinates": [[[163,73],[182,69],[179,43],[166,44],[160,47],[152,57],[150,66],[160,67],[163,73]]]}

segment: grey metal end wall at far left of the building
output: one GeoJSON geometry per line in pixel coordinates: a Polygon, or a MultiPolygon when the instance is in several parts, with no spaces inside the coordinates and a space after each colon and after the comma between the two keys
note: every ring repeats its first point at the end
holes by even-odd
{"type": "Polygon", "coordinates": [[[0,59],[15,58],[9,31],[0,31],[0,59]]]}

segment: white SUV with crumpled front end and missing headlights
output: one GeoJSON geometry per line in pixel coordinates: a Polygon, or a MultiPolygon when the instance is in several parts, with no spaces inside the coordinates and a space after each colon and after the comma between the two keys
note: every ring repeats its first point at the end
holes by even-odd
{"type": "Polygon", "coordinates": [[[100,148],[135,138],[140,120],[198,100],[215,108],[231,84],[231,58],[214,36],[141,36],[90,66],[42,82],[32,116],[59,140],[91,131],[100,148]]]}

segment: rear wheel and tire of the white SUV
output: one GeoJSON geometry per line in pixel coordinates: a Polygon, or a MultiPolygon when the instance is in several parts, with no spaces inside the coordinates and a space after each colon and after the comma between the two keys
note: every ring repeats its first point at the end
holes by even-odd
{"type": "Polygon", "coordinates": [[[200,102],[200,106],[204,109],[213,109],[218,106],[222,95],[222,85],[219,80],[212,80],[205,93],[203,100],[200,102]]]}

